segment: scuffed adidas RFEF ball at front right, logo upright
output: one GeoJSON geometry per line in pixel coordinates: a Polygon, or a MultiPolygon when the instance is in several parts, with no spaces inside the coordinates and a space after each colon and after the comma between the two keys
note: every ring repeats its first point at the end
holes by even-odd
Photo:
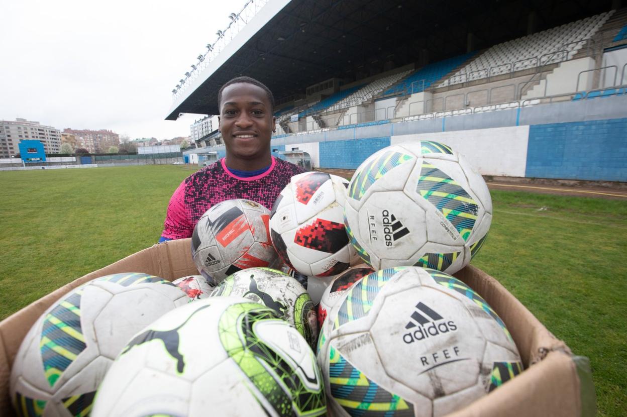
{"type": "Polygon", "coordinates": [[[490,305],[418,267],[381,270],[346,290],[322,327],[318,361],[337,416],[443,416],[522,371],[490,305]]]}

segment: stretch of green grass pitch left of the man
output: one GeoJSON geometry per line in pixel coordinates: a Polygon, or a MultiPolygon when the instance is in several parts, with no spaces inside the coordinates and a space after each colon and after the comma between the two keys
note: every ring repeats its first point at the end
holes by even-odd
{"type": "Polygon", "coordinates": [[[159,240],[187,166],[0,172],[0,319],[159,240]]]}

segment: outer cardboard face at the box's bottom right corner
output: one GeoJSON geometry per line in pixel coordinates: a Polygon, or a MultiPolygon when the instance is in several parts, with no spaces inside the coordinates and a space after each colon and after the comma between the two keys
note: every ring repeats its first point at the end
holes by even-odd
{"type": "Polygon", "coordinates": [[[489,395],[447,417],[580,415],[576,366],[564,352],[551,352],[489,395]]]}

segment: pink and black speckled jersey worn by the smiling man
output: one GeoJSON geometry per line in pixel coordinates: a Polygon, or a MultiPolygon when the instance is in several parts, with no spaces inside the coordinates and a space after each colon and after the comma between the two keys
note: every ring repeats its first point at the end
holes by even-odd
{"type": "Polygon", "coordinates": [[[191,237],[204,212],[225,200],[245,198],[271,209],[290,178],[301,172],[300,167],[272,157],[268,171],[244,178],[229,172],[224,158],[214,162],[191,174],[174,191],[161,236],[167,239],[191,237]]]}

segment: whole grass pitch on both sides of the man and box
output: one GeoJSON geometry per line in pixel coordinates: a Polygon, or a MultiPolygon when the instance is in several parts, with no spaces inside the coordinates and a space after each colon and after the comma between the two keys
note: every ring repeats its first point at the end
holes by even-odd
{"type": "MultiPolygon", "coordinates": [[[[0,319],[152,245],[185,166],[0,172],[0,319]]],[[[627,408],[627,201],[492,191],[473,264],[591,358],[599,416],[627,408]]]]}

